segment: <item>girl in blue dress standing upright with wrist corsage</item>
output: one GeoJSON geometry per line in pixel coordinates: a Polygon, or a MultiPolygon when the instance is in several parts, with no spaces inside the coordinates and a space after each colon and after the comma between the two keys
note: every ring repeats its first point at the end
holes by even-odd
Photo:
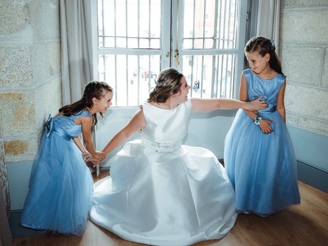
{"type": "Polygon", "coordinates": [[[245,46],[251,69],[241,75],[239,99],[263,96],[268,108],[239,109],[224,144],[224,165],[240,213],[269,216],[300,203],[294,149],[285,124],[285,76],[272,40],[245,46]]]}

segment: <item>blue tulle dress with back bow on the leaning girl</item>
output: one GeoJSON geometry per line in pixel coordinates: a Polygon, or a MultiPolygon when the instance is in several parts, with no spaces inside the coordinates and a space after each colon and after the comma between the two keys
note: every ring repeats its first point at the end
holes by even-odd
{"type": "Polygon", "coordinates": [[[29,192],[20,224],[39,230],[81,236],[93,196],[93,179],[73,137],[81,134],[74,119],[90,116],[49,117],[33,162],[29,192]]]}

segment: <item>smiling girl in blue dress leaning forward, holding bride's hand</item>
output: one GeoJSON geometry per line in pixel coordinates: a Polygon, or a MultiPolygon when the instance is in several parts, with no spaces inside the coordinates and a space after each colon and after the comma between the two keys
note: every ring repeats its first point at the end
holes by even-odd
{"type": "Polygon", "coordinates": [[[97,113],[103,117],[112,105],[112,88],[92,81],[82,99],[49,116],[41,144],[33,162],[29,192],[20,224],[54,233],[81,236],[91,209],[93,179],[84,158],[104,159],[95,151],[91,126],[97,113]],[[83,139],[87,150],[79,137],[83,139]],[[81,154],[82,153],[82,154],[81,154]]]}

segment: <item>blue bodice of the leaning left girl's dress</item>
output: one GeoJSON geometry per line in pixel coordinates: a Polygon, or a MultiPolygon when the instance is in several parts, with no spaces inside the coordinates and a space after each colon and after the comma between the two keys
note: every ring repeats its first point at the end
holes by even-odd
{"type": "Polygon", "coordinates": [[[85,116],[92,117],[87,110],[80,111],[71,116],[59,115],[54,118],[54,131],[67,139],[76,137],[82,133],[82,125],[76,125],[74,119],[85,116]]]}

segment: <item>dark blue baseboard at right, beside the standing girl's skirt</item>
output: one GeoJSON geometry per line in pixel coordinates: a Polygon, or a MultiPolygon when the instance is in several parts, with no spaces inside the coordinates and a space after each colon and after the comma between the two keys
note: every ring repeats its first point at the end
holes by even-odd
{"type": "Polygon", "coordinates": [[[328,193],[328,173],[297,160],[298,180],[328,193]]]}

